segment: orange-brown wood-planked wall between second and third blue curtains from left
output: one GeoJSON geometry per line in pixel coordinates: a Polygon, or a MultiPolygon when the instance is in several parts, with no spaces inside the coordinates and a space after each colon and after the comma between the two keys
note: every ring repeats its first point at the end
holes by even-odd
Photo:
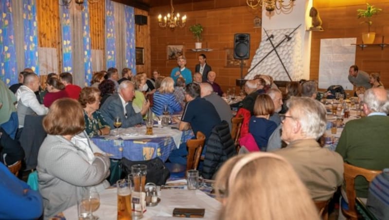
{"type": "MultiPolygon", "coordinates": [[[[38,23],[38,46],[57,49],[58,70],[62,66],[61,25],[59,23],[59,4],[54,0],[36,0],[38,23]]],[[[43,80],[42,77],[41,80],[43,80]]],[[[43,81],[44,82],[44,81],[43,81]]]]}

